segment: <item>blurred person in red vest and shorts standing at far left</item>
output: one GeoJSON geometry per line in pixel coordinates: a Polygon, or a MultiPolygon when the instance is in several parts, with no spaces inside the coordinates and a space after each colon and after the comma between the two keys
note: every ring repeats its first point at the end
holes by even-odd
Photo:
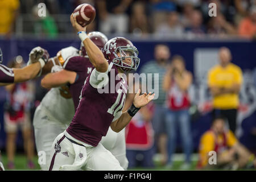
{"type": "MultiPolygon", "coordinates": [[[[10,68],[22,68],[24,64],[21,56],[17,56],[9,65],[10,68]]],[[[14,169],[15,141],[18,128],[22,129],[24,150],[27,155],[28,168],[34,168],[32,159],[34,157],[34,141],[32,137],[32,127],[30,120],[30,104],[34,96],[34,88],[31,82],[11,84],[5,87],[7,92],[7,102],[5,105],[5,131],[7,134],[6,151],[9,169],[14,169]]]]}

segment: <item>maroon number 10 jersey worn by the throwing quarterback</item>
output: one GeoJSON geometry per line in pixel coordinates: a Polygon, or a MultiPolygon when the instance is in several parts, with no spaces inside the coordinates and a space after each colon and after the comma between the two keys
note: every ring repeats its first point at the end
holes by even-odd
{"type": "Polygon", "coordinates": [[[109,81],[104,87],[108,88],[109,92],[100,93],[97,88],[90,84],[89,80],[92,73],[87,77],[82,88],[79,106],[67,132],[81,142],[95,147],[108,132],[112,121],[120,117],[125,103],[127,84],[124,78],[119,76],[115,78],[118,71],[115,65],[110,63],[109,81]],[[111,68],[112,72],[114,72],[112,77],[110,77],[111,68]],[[118,89],[116,90],[115,88],[118,89]],[[110,93],[110,90],[113,90],[113,93],[110,93]]]}

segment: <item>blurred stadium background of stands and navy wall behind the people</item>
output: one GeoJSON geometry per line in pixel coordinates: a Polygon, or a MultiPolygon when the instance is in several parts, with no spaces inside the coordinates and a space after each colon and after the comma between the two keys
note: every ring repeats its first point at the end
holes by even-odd
{"type": "MultiPolygon", "coordinates": [[[[193,166],[198,159],[197,152],[201,135],[210,127],[211,115],[207,107],[212,101],[207,86],[207,72],[218,63],[218,49],[228,47],[232,52],[232,62],[243,71],[243,84],[240,92],[238,128],[236,136],[251,152],[256,154],[256,20],[252,20],[254,32],[246,32],[243,20],[254,13],[256,2],[252,0],[2,0],[0,1],[0,47],[3,51],[3,64],[20,55],[27,62],[30,50],[36,46],[46,48],[51,56],[64,47],[79,48],[80,41],[73,31],[69,16],[81,3],[96,7],[96,19],[89,31],[101,31],[113,38],[124,36],[130,39],[139,50],[141,64],[154,59],[156,44],[166,44],[172,55],[183,56],[188,71],[193,74],[193,84],[189,89],[193,105],[203,108],[203,112],[193,113],[193,166]],[[106,3],[106,9],[101,3],[106,3]],[[125,2],[121,5],[121,2],[125,2]],[[217,17],[208,15],[209,3],[217,4],[217,17]],[[38,4],[44,3],[47,16],[40,18],[38,4]],[[254,7],[254,9],[252,8],[254,7]],[[111,27],[106,24],[112,24],[111,27]]],[[[46,94],[35,80],[31,112],[39,105],[46,94]]],[[[6,165],[6,133],[3,111],[6,90],[0,88],[0,150],[6,165]]],[[[31,115],[32,118],[32,115],[31,115]]],[[[183,160],[180,138],[177,139],[174,168],[179,169],[183,160]]],[[[27,169],[22,134],[16,140],[17,155],[15,169],[27,169]]],[[[35,151],[36,154],[36,151],[35,151]]],[[[164,169],[159,164],[159,154],[154,156],[155,169],[164,169]]],[[[37,158],[34,160],[37,163],[37,158]]],[[[36,168],[39,166],[37,164],[36,168]]],[[[143,168],[137,168],[143,169],[143,168]]]]}

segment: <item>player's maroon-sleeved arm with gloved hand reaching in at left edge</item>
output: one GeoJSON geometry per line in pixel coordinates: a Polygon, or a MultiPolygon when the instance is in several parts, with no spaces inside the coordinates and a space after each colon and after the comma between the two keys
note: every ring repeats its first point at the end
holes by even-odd
{"type": "MultiPolygon", "coordinates": [[[[35,78],[42,71],[44,65],[46,65],[49,54],[45,49],[35,47],[31,50],[29,57],[31,65],[24,68],[7,68],[1,64],[3,62],[3,53],[0,48],[0,86],[24,82],[35,78]]],[[[3,164],[0,162],[0,171],[4,169],[3,164]]]]}

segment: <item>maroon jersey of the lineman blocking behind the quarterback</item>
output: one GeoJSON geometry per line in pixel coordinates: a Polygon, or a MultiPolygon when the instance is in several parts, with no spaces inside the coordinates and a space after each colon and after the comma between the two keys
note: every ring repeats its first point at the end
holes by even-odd
{"type": "Polygon", "coordinates": [[[90,63],[89,58],[83,56],[73,56],[67,61],[68,63],[64,65],[64,69],[77,73],[76,81],[69,86],[69,92],[73,98],[76,110],[79,105],[79,96],[81,94],[82,86],[84,86],[84,81],[94,67],[92,63],[90,63]]]}

